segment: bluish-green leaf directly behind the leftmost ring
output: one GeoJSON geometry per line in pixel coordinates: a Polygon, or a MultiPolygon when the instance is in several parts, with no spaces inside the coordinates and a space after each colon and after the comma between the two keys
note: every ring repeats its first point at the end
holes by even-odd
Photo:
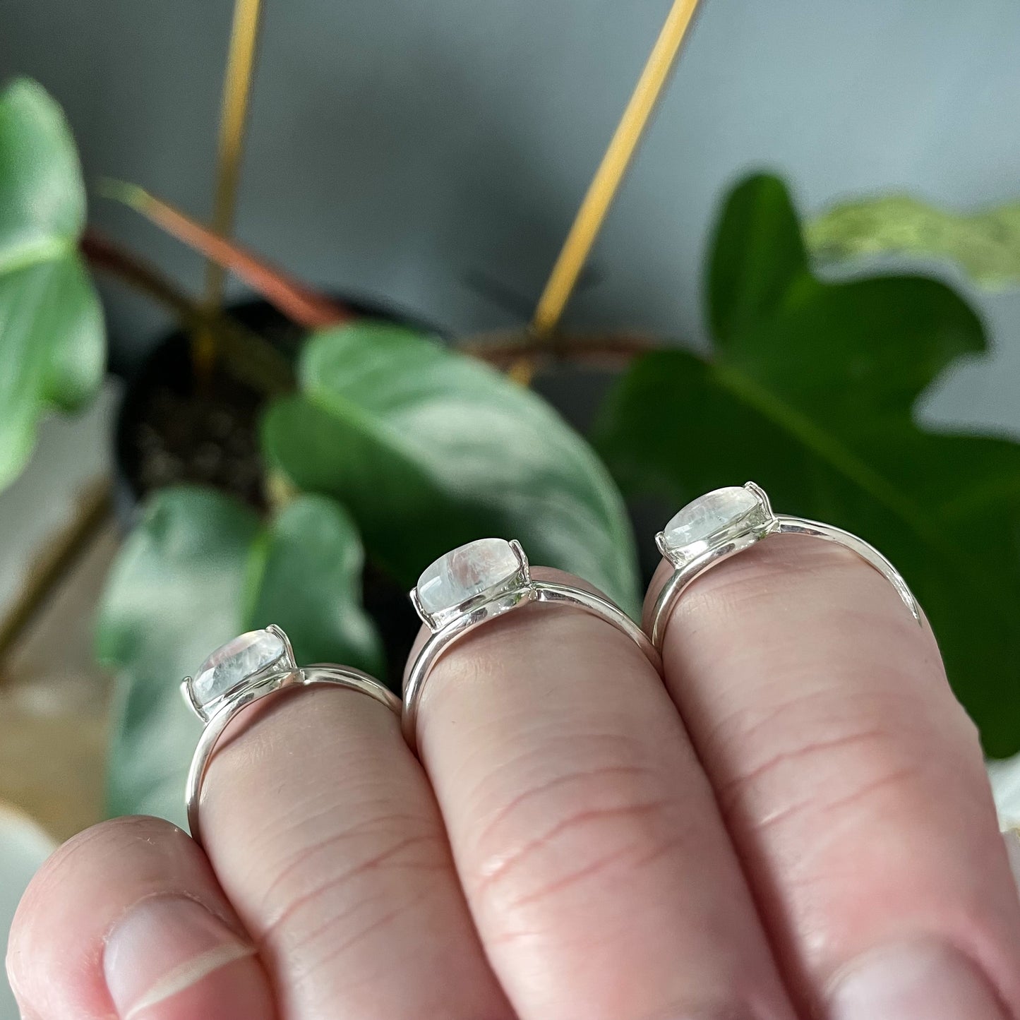
{"type": "Polygon", "coordinates": [[[278,623],[299,662],[377,670],[357,595],[362,553],[343,509],[299,498],[267,526],[213,490],[158,493],[110,573],[97,632],[117,670],[108,762],[111,814],[184,824],[200,725],[181,679],[236,634],[278,623]]]}

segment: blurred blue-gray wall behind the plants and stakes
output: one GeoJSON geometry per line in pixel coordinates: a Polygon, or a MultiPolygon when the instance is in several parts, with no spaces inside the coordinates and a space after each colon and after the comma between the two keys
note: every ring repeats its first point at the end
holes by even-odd
{"type": "MultiPolygon", "coordinates": [[[[538,295],[668,0],[266,0],[240,237],[291,270],[455,330],[538,295]]],[[[209,208],[230,0],[0,0],[0,74],[65,105],[87,170],[209,208]]],[[[911,189],[1020,194],[1016,0],[705,0],[571,324],[703,343],[700,267],[749,166],[807,209],[911,189]]],[[[96,219],[198,285],[194,256],[124,210],[96,219]]],[[[951,277],[952,278],[952,277],[951,277]]],[[[159,317],[111,294],[118,343],[159,317]]],[[[980,296],[997,345],[931,413],[1020,432],[1020,296],[980,296]]]]}

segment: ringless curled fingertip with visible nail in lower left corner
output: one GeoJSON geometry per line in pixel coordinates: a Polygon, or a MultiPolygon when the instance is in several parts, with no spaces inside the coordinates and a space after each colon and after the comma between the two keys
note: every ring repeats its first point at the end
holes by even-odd
{"type": "Polygon", "coordinates": [[[39,1020],[271,1020],[265,971],[196,844],[157,818],[103,822],[43,865],[7,973],[39,1020]]]}

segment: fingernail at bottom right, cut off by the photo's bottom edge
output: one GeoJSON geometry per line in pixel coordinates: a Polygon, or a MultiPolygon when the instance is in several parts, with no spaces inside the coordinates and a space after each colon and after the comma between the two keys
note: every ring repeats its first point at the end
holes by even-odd
{"type": "Polygon", "coordinates": [[[832,1020],[1007,1020],[977,967],[933,941],[860,958],[843,972],[830,1003],[832,1020]]]}

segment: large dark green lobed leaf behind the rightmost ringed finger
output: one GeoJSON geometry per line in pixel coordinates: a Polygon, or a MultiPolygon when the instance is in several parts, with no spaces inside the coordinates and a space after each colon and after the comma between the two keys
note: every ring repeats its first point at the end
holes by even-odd
{"type": "Polygon", "coordinates": [[[708,280],[713,356],[636,361],[605,409],[599,447],[627,492],[678,507],[753,479],[779,511],[873,543],[923,604],[986,750],[1012,754],[1020,446],[924,431],[913,414],[946,368],[984,350],[981,324],[934,280],[822,283],[806,257],[789,257],[799,234],[778,181],[736,189],[708,280]]]}

